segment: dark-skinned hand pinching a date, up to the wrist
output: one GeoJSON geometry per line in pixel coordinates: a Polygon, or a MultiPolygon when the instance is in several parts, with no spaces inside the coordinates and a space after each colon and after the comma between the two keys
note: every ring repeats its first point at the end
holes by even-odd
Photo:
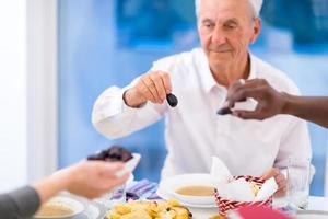
{"type": "Polygon", "coordinates": [[[233,115],[244,119],[265,119],[283,113],[284,94],[276,91],[265,79],[247,80],[233,83],[226,97],[227,107],[232,108],[236,102],[255,99],[258,104],[255,111],[233,111],[233,115]]]}

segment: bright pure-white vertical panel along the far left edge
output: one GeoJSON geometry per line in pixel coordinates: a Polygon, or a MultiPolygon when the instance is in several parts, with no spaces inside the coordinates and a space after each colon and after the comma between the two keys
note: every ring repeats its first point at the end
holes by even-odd
{"type": "Polygon", "coordinates": [[[0,191],[26,183],[26,2],[0,1],[0,191]]]}

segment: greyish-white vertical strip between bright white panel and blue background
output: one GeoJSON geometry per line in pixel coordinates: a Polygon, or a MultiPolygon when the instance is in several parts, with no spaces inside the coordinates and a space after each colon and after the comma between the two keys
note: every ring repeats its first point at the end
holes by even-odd
{"type": "Polygon", "coordinates": [[[27,0],[27,180],[57,170],[57,0],[27,0]]]}

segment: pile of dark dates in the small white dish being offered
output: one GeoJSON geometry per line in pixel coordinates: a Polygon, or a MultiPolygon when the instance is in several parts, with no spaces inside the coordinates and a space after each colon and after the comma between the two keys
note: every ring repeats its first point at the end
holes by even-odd
{"type": "Polygon", "coordinates": [[[121,146],[113,146],[106,150],[102,150],[95,154],[87,157],[87,160],[102,160],[102,161],[122,161],[127,162],[131,160],[132,153],[121,146]]]}

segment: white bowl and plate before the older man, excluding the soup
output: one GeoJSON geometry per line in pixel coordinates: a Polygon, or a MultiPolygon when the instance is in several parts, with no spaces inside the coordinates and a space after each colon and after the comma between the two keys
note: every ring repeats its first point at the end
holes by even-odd
{"type": "Polygon", "coordinates": [[[157,195],[163,199],[175,198],[184,206],[195,208],[218,208],[215,198],[203,198],[197,196],[181,196],[175,193],[178,187],[189,185],[213,186],[210,174],[195,173],[181,174],[169,178],[165,178],[160,183],[157,195]]]}

